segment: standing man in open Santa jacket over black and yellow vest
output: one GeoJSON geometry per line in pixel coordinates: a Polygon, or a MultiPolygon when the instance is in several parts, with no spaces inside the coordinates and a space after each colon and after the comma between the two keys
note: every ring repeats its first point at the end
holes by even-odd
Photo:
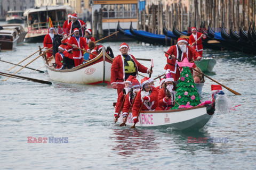
{"type": "Polygon", "coordinates": [[[128,54],[130,48],[126,43],[122,43],[119,50],[121,55],[114,58],[111,66],[111,84],[117,89],[117,94],[124,89],[124,82],[130,75],[136,77],[138,72],[148,74],[153,72],[140,64],[133,55],[128,54]]]}

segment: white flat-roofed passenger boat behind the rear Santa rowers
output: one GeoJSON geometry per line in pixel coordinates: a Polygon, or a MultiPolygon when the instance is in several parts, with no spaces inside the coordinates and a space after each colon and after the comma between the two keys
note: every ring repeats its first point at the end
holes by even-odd
{"type": "Polygon", "coordinates": [[[52,20],[54,28],[58,25],[62,28],[64,22],[67,20],[67,14],[71,12],[70,6],[41,6],[36,8],[29,8],[24,12],[25,18],[25,36],[26,42],[42,43],[45,35],[49,29],[49,17],[52,20]]]}

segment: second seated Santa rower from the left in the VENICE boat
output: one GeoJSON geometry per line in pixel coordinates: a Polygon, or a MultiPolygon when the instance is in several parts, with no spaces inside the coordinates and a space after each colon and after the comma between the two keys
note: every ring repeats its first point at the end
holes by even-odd
{"type": "MultiPolygon", "coordinates": [[[[132,77],[132,75],[130,75],[130,77],[132,77]]],[[[132,101],[134,100],[135,95],[140,91],[140,82],[135,77],[132,77],[131,84],[132,84],[132,88],[129,91],[129,93],[125,96],[124,107],[123,107],[123,123],[125,123],[125,117],[129,112],[129,109],[132,105],[132,101]]]]}

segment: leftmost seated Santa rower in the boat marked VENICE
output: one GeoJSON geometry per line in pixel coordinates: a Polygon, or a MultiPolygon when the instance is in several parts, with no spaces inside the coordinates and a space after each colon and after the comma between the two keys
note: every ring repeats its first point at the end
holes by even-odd
{"type": "MultiPolygon", "coordinates": [[[[122,106],[123,100],[124,100],[124,95],[128,94],[129,91],[131,91],[131,87],[132,87],[132,80],[134,79],[134,77],[132,75],[130,75],[130,77],[125,81],[125,87],[124,89],[120,92],[120,94],[117,97],[117,101],[116,101],[116,109],[115,109],[115,120],[114,122],[116,123],[117,119],[117,115],[118,112],[122,106]]],[[[123,109],[123,108],[121,108],[123,109]]]]}

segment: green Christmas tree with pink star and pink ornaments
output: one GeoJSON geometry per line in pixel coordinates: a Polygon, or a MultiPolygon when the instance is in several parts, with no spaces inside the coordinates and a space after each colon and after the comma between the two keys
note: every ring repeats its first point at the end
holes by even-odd
{"type": "MultiPolygon", "coordinates": [[[[197,106],[201,104],[201,99],[199,97],[198,91],[196,89],[196,84],[191,75],[189,67],[194,63],[189,63],[187,58],[183,62],[177,62],[179,66],[183,66],[180,78],[178,80],[178,88],[176,90],[175,100],[179,105],[190,105],[197,106]]],[[[178,109],[179,105],[175,104],[172,109],[178,109]]]]}

